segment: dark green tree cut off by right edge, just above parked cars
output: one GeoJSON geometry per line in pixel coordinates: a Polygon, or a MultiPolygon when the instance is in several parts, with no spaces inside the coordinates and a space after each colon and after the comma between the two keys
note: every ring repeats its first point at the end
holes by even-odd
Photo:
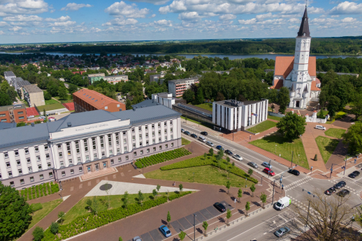
{"type": "Polygon", "coordinates": [[[343,143],[348,144],[349,153],[362,153],[362,123],[350,125],[342,138],[343,143]]]}

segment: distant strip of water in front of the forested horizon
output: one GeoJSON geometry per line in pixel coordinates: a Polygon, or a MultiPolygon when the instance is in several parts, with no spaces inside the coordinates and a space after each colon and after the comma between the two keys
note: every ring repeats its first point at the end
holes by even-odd
{"type": "MultiPolygon", "coordinates": [[[[6,52],[0,52],[0,54],[34,54],[34,53],[6,53],[6,52]]],[[[36,53],[38,54],[38,53],[36,53]]],[[[66,53],[57,53],[57,52],[45,52],[42,54],[50,54],[50,55],[59,55],[59,56],[63,56],[66,53]]],[[[148,56],[150,54],[143,54],[143,53],[136,53],[138,54],[138,56],[140,55],[145,55],[148,56]]],[[[134,56],[136,56],[136,54],[133,54],[134,56]]],[[[68,56],[81,56],[82,54],[66,54],[68,56]]],[[[96,54],[99,55],[99,54],[96,54]]],[[[108,54],[110,55],[110,54],[108,54]]],[[[115,55],[115,54],[113,54],[115,55]]],[[[159,55],[166,55],[166,54],[152,54],[154,56],[159,56],[159,55]]],[[[215,58],[218,57],[220,59],[224,59],[224,57],[228,57],[229,59],[233,60],[233,59],[246,59],[246,58],[260,58],[260,59],[274,59],[277,56],[294,56],[293,54],[178,54],[178,56],[185,56],[186,59],[193,59],[194,56],[205,56],[208,58],[215,58]]],[[[348,58],[348,57],[353,57],[353,58],[362,58],[361,55],[359,56],[350,56],[350,55],[311,55],[311,56],[316,56],[317,59],[326,59],[326,58],[348,58]]]]}

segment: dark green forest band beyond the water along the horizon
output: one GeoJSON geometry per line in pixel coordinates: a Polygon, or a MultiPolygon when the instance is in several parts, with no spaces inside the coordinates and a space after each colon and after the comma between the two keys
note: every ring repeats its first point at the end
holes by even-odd
{"type": "MultiPolygon", "coordinates": [[[[164,54],[294,54],[296,40],[280,38],[267,40],[239,40],[220,42],[167,43],[159,45],[71,45],[48,46],[41,52],[70,53],[164,53],[164,54]]],[[[362,37],[312,38],[311,54],[361,54],[362,37]]]]}

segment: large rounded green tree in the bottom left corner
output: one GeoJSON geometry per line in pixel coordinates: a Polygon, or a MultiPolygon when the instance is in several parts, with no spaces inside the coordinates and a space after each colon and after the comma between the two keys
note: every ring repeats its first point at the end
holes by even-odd
{"type": "Polygon", "coordinates": [[[31,221],[31,208],[15,188],[0,182],[0,240],[20,237],[31,221]]]}

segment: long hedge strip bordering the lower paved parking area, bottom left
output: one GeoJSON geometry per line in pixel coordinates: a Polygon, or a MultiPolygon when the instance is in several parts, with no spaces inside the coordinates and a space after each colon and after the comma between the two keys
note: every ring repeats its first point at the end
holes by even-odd
{"type": "MultiPolygon", "coordinates": [[[[182,192],[180,194],[175,194],[170,197],[170,201],[173,199],[178,199],[181,196],[185,196],[187,194],[191,194],[191,192],[182,192]]],[[[120,207],[111,210],[105,210],[99,212],[97,216],[90,213],[87,215],[82,215],[80,217],[77,217],[69,224],[59,225],[57,235],[52,234],[50,232],[50,228],[48,228],[44,233],[44,238],[42,239],[42,241],[65,240],[66,238],[73,237],[74,235],[78,235],[79,233],[84,233],[94,228],[99,228],[100,226],[109,224],[113,221],[135,215],[138,212],[154,208],[163,203],[167,203],[167,201],[167,196],[161,196],[158,199],[144,201],[142,205],[138,203],[130,204],[127,209],[120,207]]]]}

